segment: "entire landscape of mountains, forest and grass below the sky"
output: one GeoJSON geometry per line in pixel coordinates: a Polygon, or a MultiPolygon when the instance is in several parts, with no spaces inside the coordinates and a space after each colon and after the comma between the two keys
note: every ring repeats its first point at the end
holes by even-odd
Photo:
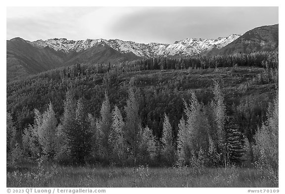
{"type": "Polygon", "coordinates": [[[278,187],[278,41],[7,40],[7,187],[278,187]]]}

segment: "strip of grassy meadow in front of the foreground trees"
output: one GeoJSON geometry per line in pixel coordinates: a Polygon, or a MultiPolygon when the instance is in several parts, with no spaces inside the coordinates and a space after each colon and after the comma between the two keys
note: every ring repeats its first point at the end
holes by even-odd
{"type": "Polygon", "coordinates": [[[253,168],[71,167],[7,169],[7,187],[278,187],[253,168]]]}

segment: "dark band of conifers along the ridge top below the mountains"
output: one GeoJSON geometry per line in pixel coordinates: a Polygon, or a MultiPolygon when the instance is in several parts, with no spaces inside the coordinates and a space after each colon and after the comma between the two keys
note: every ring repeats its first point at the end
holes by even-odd
{"type": "Polygon", "coordinates": [[[254,52],[235,55],[213,56],[173,56],[153,57],[124,61],[114,64],[77,64],[60,69],[60,78],[75,78],[80,75],[104,74],[111,72],[122,74],[124,72],[137,72],[147,70],[185,70],[185,69],[208,69],[221,67],[262,67],[266,69],[278,69],[278,52],[254,52]]]}

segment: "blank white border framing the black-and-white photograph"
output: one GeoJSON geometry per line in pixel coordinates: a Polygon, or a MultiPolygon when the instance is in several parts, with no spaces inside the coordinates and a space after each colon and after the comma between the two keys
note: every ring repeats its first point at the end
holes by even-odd
{"type": "MultiPolygon", "coordinates": [[[[36,0],[6,0],[4,3],[1,2],[0,7],[0,13],[1,13],[1,80],[0,80],[0,89],[2,91],[1,95],[1,101],[0,101],[0,116],[1,116],[1,124],[2,129],[0,130],[0,136],[1,136],[1,142],[5,142],[5,118],[6,118],[6,32],[4,29],[6,29],[6,7],[7,6],[279,6],[279,63],[280,63],[280,71],[279,71],[279,80],[280,80],[280,88],[279,88],[279,128],[280,128],[280,141],[279,141],[279,148],[280,148],[280,176],[279,176],[279,190],[280,193],[285,193],[285,187],[284,187],[284,154],[283,154],[283,148],[284,148],[284,119],[283,119],[283,113],[284,113],[284,49],[283,49],[283,43],[285,35],[284,33],[284,25],[283,25],[283,18],[284,18],[284,4],[281,0],[259,0],[259,1],[250,1],[250,0],[235,0],[235,1],[226,1],[226,0],[203,0],[203,1],[184,1],[184,0],[175,0],[175,1],[154,1],[154,0],[143,0],[138,2],[135,2],[134,0],[104,0],[104,1],[92,1],[92,0],[48,0],[48,1],[36,1],[36,0]]],[[[1,161],[1,167],[4,172],[1,173],[0,176],[0,183],[1,183],[1,190],[2,193],[6,193],[6,165],[5,165],[5,143],[2,143],[3,145],[0,147],[2,160],[1,161]]],[[[231,194],[245,194],[247,193],[247,189],[249,188],[136,188],[136,189],[109,189],[107,188],[109,193],[132,193],[138,192],[138,193],[158,193],[158,192],[166,192],[166,193],[217,193],[217,194],[228,194],[229,192],[231,194]]],[[[253,189],[253,188],[250,188],[253,189]]],[[[256,188],[257,189],[257,188],[256,188]]],[[[272,188],[273,189],[273,188],[272,188]]]]}

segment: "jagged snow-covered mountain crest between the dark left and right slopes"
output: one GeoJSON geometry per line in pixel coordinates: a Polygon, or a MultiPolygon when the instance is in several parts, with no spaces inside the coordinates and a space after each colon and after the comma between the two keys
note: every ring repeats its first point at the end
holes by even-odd
{"type": "Polygon", "coordinates": [[[218,39],[184,39],[173,44],[163,43],[137,43],[134,41],[123,41],[119,39],[86,39],[86,40],[67,40],[67,39],[47,39],[28,42],[40,49],[45,47],[53,48],[56,51],[69,53],[72,51],[80,52],[87,50],[95,45],[108,45],[121,53],[134,53],[139,57],[173,56],[173,55],[195,55],[212,48],[222,48],[238,39],[241,35],[231,35],[226,38],[218,39]]]}

